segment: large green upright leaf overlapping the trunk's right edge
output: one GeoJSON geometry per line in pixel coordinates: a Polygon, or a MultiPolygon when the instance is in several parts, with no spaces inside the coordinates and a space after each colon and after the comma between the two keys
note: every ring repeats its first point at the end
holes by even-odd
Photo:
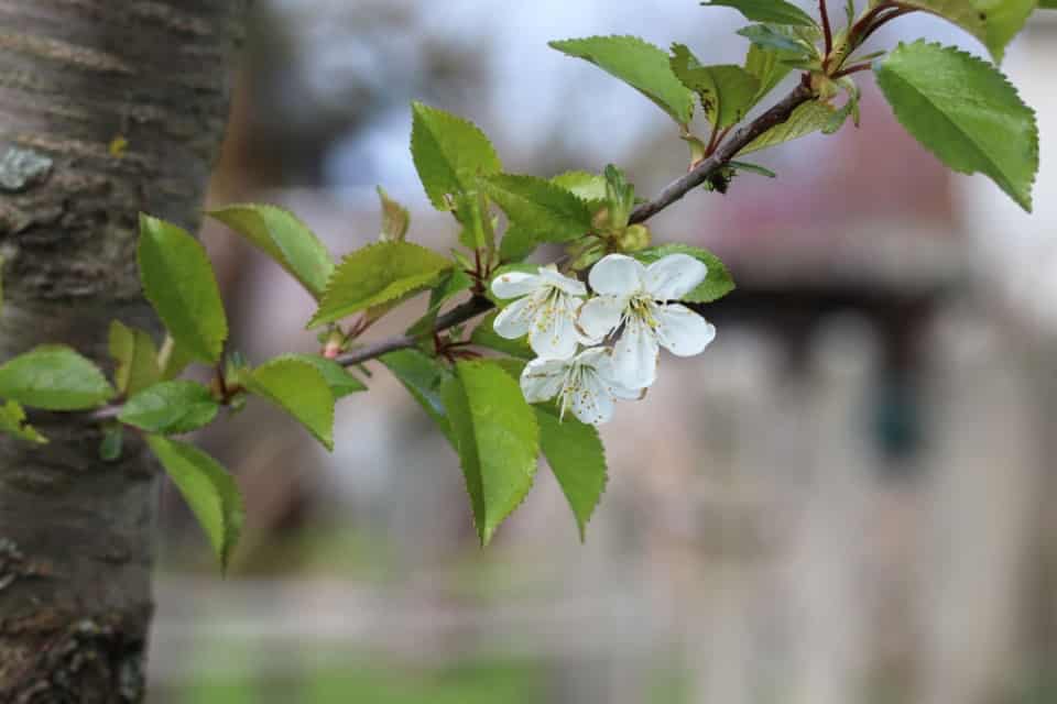
{"type": "Polygon", "coordinates": [[[170,334],[199,362],[217,362],[228,321],[205,248],[181,228],[140,215],[137,256],[143,293],[170,334]]]}

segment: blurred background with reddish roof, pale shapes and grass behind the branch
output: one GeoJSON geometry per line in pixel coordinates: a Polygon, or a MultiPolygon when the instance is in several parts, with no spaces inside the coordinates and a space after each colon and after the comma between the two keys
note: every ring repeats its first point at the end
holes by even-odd
{"type": "MultiPolygon", "coordinates": [[[[686,168],[667,118],[546,42],[748,48],[737,13],[693,0],[255,4],[210,200],[292,208],[339,254],[377,238],[379,184],[412,239],[455,244],[411,100],[471,118],[510,170],[613,162],[650,196],[686,168]]],[[[874,43],[923,33],[981,53],[925,16],[874,43]]],[[[652,222],[740,287],[711,306],[717,342],[604,427],[585,544],[544,469],[481,550],[455,453],[379,365],[334,454],[259,404],[204,433],[249,524],[221,579],[166,490],[151,701],[1057,703],[1057,12],[1004,69],[1042,124],[1032,217],[942,168],[861,75],[861,130],[652,222]]],[[[237,346],[316,349],[308,296],[214,228],[237,346]]]]}

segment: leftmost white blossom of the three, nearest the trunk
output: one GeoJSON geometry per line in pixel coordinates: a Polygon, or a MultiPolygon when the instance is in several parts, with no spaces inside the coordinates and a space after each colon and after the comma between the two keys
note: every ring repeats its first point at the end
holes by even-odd
{"type": "Polygon", "coordinates": [[[508,340],[527,334],[541,358],[568,359],[580,342],[590,342],[576,329],[576,312],[587,287],[559,274],[554,265],[541,266],[538,274],[501,274],[492,280],[492,293],[498,298],[517,298],[495,317],[495,332],[508,340]]]}

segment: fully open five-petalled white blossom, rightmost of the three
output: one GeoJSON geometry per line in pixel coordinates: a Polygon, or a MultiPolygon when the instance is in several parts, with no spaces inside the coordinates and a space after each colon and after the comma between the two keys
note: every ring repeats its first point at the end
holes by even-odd
{"type": "Polygon", "coordinates": [[[623,254],[609,254],[588,282],[598,296],[580,308],[577,324],[602,339],[623,327],[613,348],[613,369],[624,386],[653,384],[661,346],[679,356],[699,354],[716,338],[716,328],[678,300],[705,280],[708,267],[687,254],[669,254],[643,266],[623,254]]]}

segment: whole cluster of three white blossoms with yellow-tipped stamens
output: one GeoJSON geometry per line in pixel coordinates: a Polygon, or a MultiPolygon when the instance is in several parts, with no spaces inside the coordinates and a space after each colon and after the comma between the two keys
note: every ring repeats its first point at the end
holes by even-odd
{"type": "Polygon", "coordinates": [[[527,334],[540,355],[521,375],[525,398],[536,404],[557,397],[563,416],[571,409],[584,422],[607,422],[617,399],[642,398],[656,380],[660,348],[690,356],[716,338],[713,326],[672,302],[707,274],[687,254],[650,266],[609,254],[591,268],[590,294],[553,264],[536,274],[497,276],[492,293],[517,300],[495,317],[495,332],[509,340],[527,334]]]}

